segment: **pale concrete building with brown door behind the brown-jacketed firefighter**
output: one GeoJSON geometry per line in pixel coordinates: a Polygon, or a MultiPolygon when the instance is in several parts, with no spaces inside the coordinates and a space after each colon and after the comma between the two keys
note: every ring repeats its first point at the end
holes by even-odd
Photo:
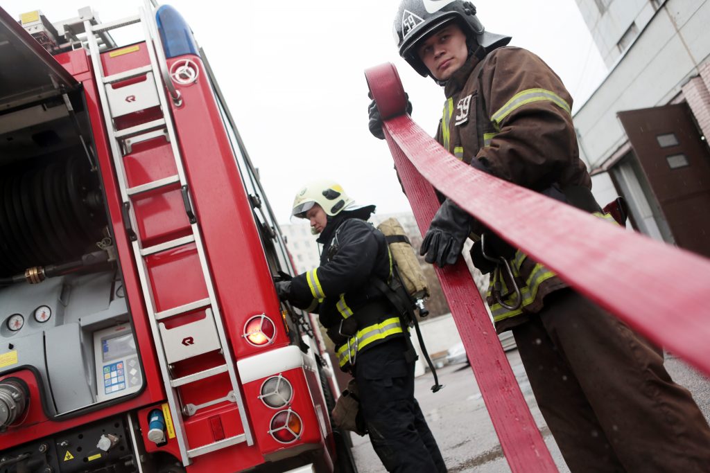
{"type": "Polygon", "coordinates": [[[600,203],[710,256],[710,0],[576,0],[610,67],[575,113],[600,203]]]}

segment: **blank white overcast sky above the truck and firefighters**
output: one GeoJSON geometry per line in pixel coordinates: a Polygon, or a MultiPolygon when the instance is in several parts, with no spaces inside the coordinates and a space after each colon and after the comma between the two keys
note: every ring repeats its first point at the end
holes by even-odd
{"type": "MultiPolygon", "coordinates": [[[[136,14],[138,0],[0,0],[13,18],[40,9],[50,21],[92,6],[102,21],[136,14]]],[[[195,32],[278,221],[295,192],[334,179],[378,213],[408,211],[386,143],[367,128],[364,69],[393,62],[413,119],[434,133],[444,95],[400,59],[392,23],[399,0],[166,2],[195,32]]],[[[540,55],[562,77],[577,109],[606,75],[574,0],[477,0],[487,30],[540,55]]],[[[114,38],[121,41],[118,34],[114,38]]],[[[124,40],[125,41],[125,40],[124,40]]]]}

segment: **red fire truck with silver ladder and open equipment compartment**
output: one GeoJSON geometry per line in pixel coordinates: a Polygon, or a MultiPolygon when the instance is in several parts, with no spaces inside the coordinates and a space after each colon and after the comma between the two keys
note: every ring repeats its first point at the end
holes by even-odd
{"type": "Polygon", "coordinates": [[[258,173],[170,6],[0,9],[0,473],[354,471],[258,173]],[[116,28],[142,40],[119,47],[116,28]]]}

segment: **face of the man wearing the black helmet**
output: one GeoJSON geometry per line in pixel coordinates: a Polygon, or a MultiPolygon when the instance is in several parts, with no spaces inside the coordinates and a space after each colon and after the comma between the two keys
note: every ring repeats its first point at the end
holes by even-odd
{"type": "Polygon", "coordinates": [[[435,79],[447,80],[469,57],[466,35],[451,23],[422,40],[417,54],[435,79]]]}

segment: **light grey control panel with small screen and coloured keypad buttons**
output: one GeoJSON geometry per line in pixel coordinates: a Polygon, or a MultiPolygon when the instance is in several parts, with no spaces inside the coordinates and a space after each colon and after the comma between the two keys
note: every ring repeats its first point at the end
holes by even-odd
{"type": "Polygon", "coordinates": [[[143,374],[136,339],[128,323],[94,332],[94,360],[99,402],[141,389],[143,374]]]}

